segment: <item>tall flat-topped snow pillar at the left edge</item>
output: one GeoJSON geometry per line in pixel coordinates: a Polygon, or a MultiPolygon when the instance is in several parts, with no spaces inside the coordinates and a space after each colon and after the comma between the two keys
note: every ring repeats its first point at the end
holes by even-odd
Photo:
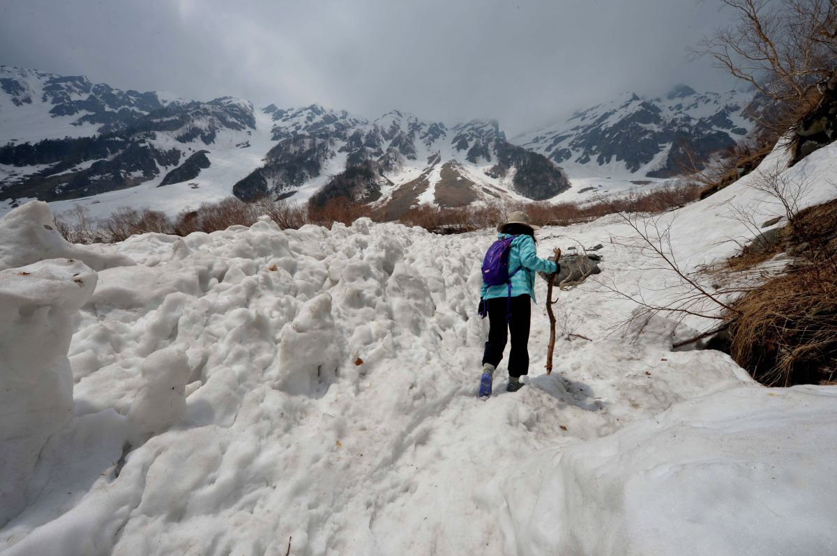
{"type": "Polygon", "coordinates": [[[72,416],[72,317],[95,285],[77,261],[0,271],[0,525],[23,508],[39,451],[72,416]]]}

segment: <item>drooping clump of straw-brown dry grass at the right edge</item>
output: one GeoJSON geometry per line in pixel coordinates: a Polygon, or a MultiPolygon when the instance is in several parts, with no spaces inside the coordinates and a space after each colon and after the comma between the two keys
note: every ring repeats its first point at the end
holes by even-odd
{"type": "Polygon", "coordinates": [[[731,355],[768,386],[818,384],[837,372],[837,273],[807,265],[744,295],[731,355]]]}

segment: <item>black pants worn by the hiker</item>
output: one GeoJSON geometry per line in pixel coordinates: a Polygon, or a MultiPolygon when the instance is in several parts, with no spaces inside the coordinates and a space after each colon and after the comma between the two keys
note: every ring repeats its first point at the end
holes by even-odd
{"type": "Polygon", "coordinates": [[[511,298],[511,320],[506,324],[508,298],[490,298],[485,300],[488,306],[488,341],[485,342],[485,354],[482,362],[497,368],[506,349],[508,331],[511,330],[511,351],[509,352],[509,376],[520,377],[529,374],[529,319],[531,316],[531,298],[518,295],[511,298]]]}

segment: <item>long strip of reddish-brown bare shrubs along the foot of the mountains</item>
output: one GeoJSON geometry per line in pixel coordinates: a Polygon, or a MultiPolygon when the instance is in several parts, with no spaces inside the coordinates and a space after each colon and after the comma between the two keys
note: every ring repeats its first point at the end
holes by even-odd
{"type": "Polygon", "coordinates": [[[173,233],[186,236],[192,232],[216,232],[230,226],[251,226],[260,216],[268,216],[281,229],[299,228],[305,224],[331,227],[333,222],[351,224],[360,217],[374,222],[398,220],[407,226],[420,226],[436,233],[460,233],[495,227],[506,214],[525,211],[538,226],[567,226],[588,222],[613,212],[662,212],[681,207],[696,199],[694,186],[670,184],[644,194],[630,192],[616,199],[599,200],[581,207],[574,203],[503,202],[481,207],[415,206],[422,191],[429,186],[426,173],[396,191],[387,207],[370,205],[336,197],[318,207],[298,205],[285,200],[260,199],[244,202],[229,197],[218,202],[203,203],[177,217],[150,209],[121,207],[107,218],[93,218],[83,207],[55,217],[61,235],[74,243],[121,242],[127,237],[146,232],[173,233]],[[393,214],[398,213],[398,217],[393,214]]]}

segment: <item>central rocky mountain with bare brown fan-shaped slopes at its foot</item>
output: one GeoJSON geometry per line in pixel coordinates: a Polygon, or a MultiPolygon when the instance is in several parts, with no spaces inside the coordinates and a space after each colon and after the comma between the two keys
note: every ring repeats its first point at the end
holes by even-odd
{"type": "Polygon", "coordinates": [[[278,142],[264,166],[235,184],[244,199],[297,195],[323,203],[348,196],[398,217],[417,202],[542,200],[569,187],[556,165],[509,143],[493,120],[448,127],[398,110],[373,121],[316,105],[264,111],[278,142]]]}

